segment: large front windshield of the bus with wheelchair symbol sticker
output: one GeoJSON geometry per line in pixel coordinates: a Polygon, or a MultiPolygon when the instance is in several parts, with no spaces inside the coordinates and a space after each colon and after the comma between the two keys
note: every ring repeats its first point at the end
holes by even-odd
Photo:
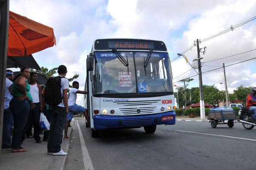
{"type": "Polygon", "coordinates": [[[172,92],[166,52],[95,52],[93,94],[172,92]],[[148,56],[150,55],[150,56],[148,56]],[[145,61],[148,60],[148,64],[145,61]]]}

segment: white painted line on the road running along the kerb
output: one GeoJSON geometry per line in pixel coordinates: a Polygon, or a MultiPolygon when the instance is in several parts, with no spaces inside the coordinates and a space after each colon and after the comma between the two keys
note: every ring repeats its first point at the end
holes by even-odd
{"type": "Polygon", "coordinates": [[[84,161],[84,169],[85,170],[94,170],[93,169],[92,161],[90,159],[87,147],[86,147],[85,142],[84,142],[84,137],[83,137],[83,135],[81,133],[81,129],[80,129],[79,123],[78,123],[78,121],[76,121],[76,122],[77,122],[78,131],[79,131],[79,138],[80,138],[82,155],[83,155],[83,161],[84,161]]]}

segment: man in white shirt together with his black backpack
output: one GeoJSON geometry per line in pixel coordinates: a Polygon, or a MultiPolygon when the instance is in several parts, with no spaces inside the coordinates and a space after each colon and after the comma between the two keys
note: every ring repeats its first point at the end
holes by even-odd
{"type": "Polygon", "coordinates": [[[44,101],[50,105],[52,113],[47,154],[65,156],[67,153],[61,149],[61,142],[68,113],[67,90],[69,89],[69,82],[65,78],[67,67],[60,65],[58,74],[57,77],[48,79],[44,94],[44,101]]]}

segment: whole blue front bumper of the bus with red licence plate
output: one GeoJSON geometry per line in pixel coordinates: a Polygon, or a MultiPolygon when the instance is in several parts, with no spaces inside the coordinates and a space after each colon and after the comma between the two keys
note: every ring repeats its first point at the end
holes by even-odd
{"type": "Polygon", "coordinates": [[[93,123],[95,130],[133,128],[157,124],[171,125],[175,124],[175,111],[135,116],[94,115],[93,123]]]}

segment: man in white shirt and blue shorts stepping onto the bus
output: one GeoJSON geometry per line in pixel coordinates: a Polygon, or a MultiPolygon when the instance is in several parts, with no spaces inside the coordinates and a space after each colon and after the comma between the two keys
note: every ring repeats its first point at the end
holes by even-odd
{"type": "Polygon", "coordinates": [[[69,97],[68,97],[68,115],[67,115],[67,122],[66,122],[66,126],[65,126],[65,130],[64,130],[64,140],[69,139],[69,137],[67,136],[67,130],[69,127],[69,122],[70,120],[73,118],[73,115],[76,113],[84,113],[84,116],[87,120],[87,123],[89,124],[89,116],[88,116],[88,112],[87,109],[76,104],[76,94],[87,94],[87,91],[81,91],[78,90],[79,89],[79,82],[74,81],[72,84],[72,88],[69,91],[69,97]]]}

